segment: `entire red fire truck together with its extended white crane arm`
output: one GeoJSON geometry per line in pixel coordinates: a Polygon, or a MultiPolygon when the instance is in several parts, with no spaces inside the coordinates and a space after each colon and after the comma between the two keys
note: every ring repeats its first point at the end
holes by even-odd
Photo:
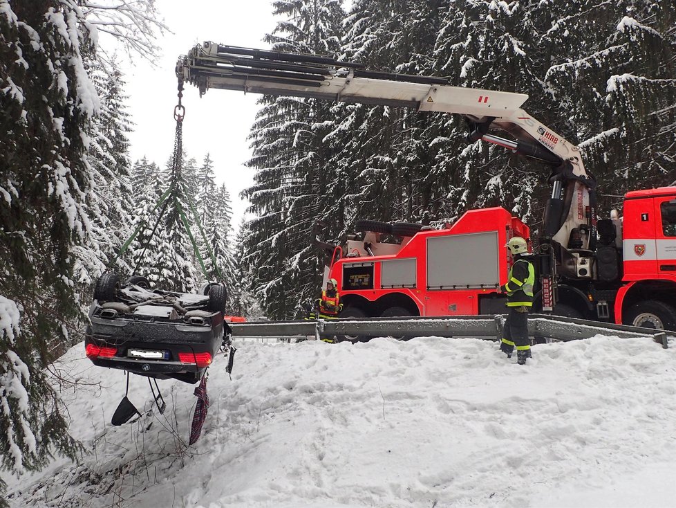
{"type": "MultiPolygon", "coordinates": [[[[176,75],[200,95],[230,89],[463,116],[469,143],[494,143],[550,167],[536,305],[570,318],[676,330],[676,187],[628,192],[623,217],[614,210],[597,219],[597,181],[579,147],[521,109],[527,95],[212,42],[180,57],[176,75]]],[[[511,264],[503,246],[514,235],[529,239],[528,226],[500,207],[470,210],[438,230],[378,221],[357,228],[364,234],[344,245],[322,244],[331,252],[325,280],[338,281],[344,304],[340,317],[500,313],[498,288],[511,264]]]]}

